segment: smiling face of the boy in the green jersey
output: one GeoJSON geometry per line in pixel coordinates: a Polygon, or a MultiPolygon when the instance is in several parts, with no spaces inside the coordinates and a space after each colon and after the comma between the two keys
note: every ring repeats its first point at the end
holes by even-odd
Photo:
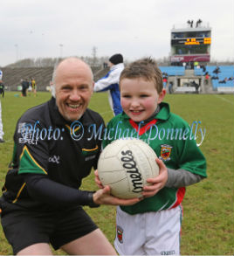
{"type": "Polygon", "coordinates": [[[165,89],[158,93],[153,81],[142,78],[123,79],[120,82],[121,106],[133,121],[147,120],[154,114],[165,94],[165,89]]]}

